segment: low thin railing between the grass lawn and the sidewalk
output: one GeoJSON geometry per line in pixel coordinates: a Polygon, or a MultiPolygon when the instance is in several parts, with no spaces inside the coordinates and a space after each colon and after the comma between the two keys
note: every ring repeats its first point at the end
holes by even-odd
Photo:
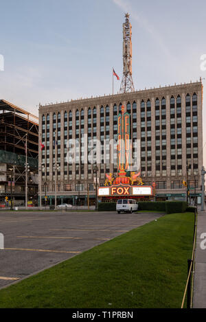
{"type": "Polygon", "coordinates": [[[196,230],[197,230],[197,208],[194,212],[194,235],[193,235],[193,248],[192,258],[187,260],[187,283],[183,295],[181,308],[184,308],[185,299],[187,295],[187,308],[192,308],[193,301],[193,286],[194,286],[194,264],[195,264],[195,249],[196,249],[196,230]]]}

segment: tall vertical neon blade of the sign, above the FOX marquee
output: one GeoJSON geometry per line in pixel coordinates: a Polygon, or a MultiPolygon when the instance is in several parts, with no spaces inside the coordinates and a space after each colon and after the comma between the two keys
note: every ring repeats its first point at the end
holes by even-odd
{"type": "Polygon", "coordinates": [[[130,115],[122,105],[118,119],[117,164],[119,170],[130,170],[130,115]]]}

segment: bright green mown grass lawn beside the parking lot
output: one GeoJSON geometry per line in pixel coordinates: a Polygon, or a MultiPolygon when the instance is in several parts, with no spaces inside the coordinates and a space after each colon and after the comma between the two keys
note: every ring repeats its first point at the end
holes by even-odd
{"type": "Polygon", "coordinates": [[[0,308],[180,308],[194,214],[170,214],[0,290],[0,308]]]}

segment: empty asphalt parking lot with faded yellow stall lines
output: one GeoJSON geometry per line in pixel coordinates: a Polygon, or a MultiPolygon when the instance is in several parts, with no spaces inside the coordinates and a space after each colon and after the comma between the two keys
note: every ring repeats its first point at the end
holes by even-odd
{"type": "Polygon", "coordinates": [[[162,216],[155,213],[0,212],[0,288],[162,216]]]}

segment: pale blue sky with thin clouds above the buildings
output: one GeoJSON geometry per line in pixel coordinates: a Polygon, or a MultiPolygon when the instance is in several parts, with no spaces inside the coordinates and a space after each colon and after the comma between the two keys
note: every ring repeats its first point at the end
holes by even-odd
{"type": "MultiPolygon", "coordinates": [[[[117,93],[129,12],[135,89],[202,77],[205,124],[205,0],[0,0],[0,8],[1,99],[38,115],[39,103],[108,95],[112,67],[117,93]]],[[[203,144],[206,167],[206,126],[203,144]]]]}

